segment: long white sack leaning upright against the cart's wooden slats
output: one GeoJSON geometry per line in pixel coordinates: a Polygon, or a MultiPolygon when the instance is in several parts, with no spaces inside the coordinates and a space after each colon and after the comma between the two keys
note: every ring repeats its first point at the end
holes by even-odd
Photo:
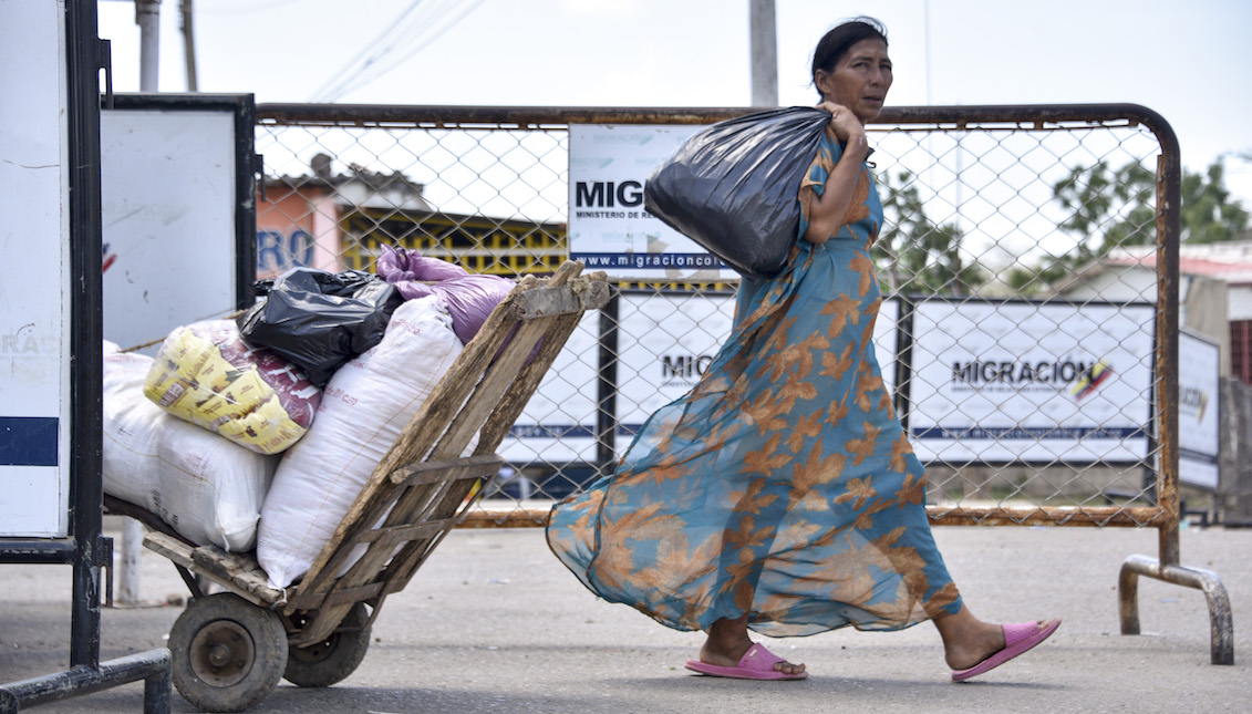
{"type": "Polygon", "coordinates": [[[270,585],[285,587],[308,571],[461,351],[447,304],[429,296],[397,308],[382,342],[331,377],[313,426],[283,455],[262,507],[257,560],[270,585]]]}

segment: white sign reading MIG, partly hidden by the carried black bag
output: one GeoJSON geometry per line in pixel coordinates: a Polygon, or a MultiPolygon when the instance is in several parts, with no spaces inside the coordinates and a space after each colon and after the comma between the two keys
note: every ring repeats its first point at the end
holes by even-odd
{"type": "Polygon", "coordinates": [[[717,279],[729,267],[644,209],[644,183],[704,127],[570,125],[570,258],[649,281],[717,279]]]}

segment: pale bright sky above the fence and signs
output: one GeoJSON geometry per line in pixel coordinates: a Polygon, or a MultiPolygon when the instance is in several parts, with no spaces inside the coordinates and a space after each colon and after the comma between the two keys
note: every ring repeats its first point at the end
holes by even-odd
{"type": "MultiPolygon", "coordinates": [[[[749,0],[195,0],[194,6],[199,90],[250,93],[258,103],[327,96],[502,106],[751,103],[749,0]],[[343,71],[359,68],[371,50],[389,51],[366,71],[343,71]],[[347,81],[337,85],[344,74],[347,81]]],[[[889,105],[1142,104],[1174,129],[1188,170],[1226,157],[1227,187],[1252,207],[1247,0],[776,0],[775,8],[781,105],[816,101],[809,85],[813,48],[838,21],[869,14],[888,28],[895,65],[889,105]]],[[[179,3],[165,0],[160,10],[159,89],[183,91],[179,3]]],[[[101,0],[99,15],[100,36],[113,44],[114,89],[135,91],[134,5],[101,0]]]]}

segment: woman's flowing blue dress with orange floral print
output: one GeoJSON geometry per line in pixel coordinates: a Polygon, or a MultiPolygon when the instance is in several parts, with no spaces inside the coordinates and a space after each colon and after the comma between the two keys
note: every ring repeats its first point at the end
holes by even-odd
{"type": "MultiPolygon", "coordinates": [[[[840,152],[823,139],[801,237],[840,152]]],[[[647,420],[611,476],[552,509],[548,544],[588,589],[679,630],[749,613],[771,636],[960,609],[874,354],[881,222],[863,165],[835,235],[798,239],[782,273],[745,279],[701,382],[647,420]]]]}

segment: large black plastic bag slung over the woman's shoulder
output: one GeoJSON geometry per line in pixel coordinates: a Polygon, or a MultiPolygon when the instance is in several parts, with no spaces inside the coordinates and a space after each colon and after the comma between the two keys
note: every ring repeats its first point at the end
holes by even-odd
{"type": "Polygon", "coordinates": [[[800,182],[830,113],[793,106],[719,122],[644,185],[649,213],[740,274],[776,276],[800,227],[800,182]]]}

